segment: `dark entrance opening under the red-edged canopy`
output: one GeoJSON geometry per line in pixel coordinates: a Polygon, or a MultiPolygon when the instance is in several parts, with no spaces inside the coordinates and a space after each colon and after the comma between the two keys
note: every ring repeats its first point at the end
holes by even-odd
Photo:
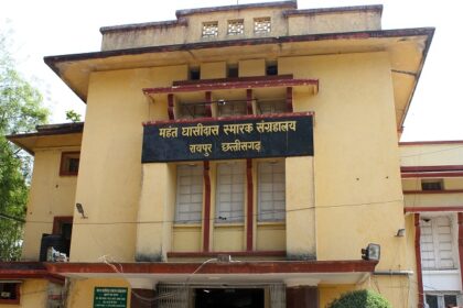
{"type": "Polygon", "coordinates": [[[263,288],[197,288],[195,308],[263,308],[263,288]]]}

